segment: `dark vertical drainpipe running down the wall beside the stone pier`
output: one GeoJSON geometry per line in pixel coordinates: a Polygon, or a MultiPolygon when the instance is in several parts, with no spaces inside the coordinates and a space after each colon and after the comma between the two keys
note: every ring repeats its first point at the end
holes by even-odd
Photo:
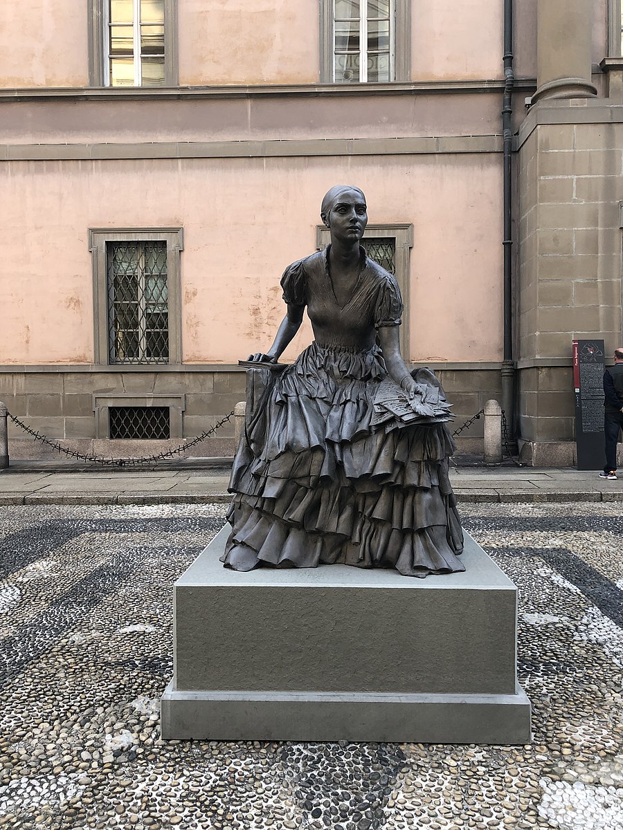
{"type": "Polygon", "coordinates": [[[508,438],[515,439],[515,363],[513,360],[513,0],[504,0],[503,212],[504,212],[504,356],[502,408],[508,438]]]}

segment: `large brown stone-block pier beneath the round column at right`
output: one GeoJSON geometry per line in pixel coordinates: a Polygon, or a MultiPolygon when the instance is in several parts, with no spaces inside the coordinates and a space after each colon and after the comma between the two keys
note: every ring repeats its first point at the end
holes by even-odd
{"type": "Polygon", "coordinates": [[[623,344],[623,108],[542,101],[518,144],[519,435],[528,463],[565,465],[575,457],[571,340],[603,338],[606,357],[623,344]]]}

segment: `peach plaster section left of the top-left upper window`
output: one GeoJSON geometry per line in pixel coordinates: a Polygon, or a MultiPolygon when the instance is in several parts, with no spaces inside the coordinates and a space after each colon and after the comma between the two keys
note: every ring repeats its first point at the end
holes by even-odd
{"type": "Polygon", "coordinates": [[[0,87],[88,82],[86,0],[0,0],[0,87]]]}

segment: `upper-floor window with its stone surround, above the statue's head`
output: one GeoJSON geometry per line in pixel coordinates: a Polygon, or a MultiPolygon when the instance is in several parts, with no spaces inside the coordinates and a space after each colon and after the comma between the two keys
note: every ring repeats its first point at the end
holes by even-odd
{"type": "Polygon", "coordinates": [[[410,0],[321,0],[321,81],[408,81],[410,0]]]}

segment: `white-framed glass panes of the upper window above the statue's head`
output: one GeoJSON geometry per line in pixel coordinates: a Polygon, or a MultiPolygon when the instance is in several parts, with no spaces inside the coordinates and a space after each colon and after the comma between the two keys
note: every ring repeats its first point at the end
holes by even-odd
{"type": "Polygon", "coordinates": [[[333,0],[333,80],[356,84],[394,77],[392,0],[333,0]]]}

